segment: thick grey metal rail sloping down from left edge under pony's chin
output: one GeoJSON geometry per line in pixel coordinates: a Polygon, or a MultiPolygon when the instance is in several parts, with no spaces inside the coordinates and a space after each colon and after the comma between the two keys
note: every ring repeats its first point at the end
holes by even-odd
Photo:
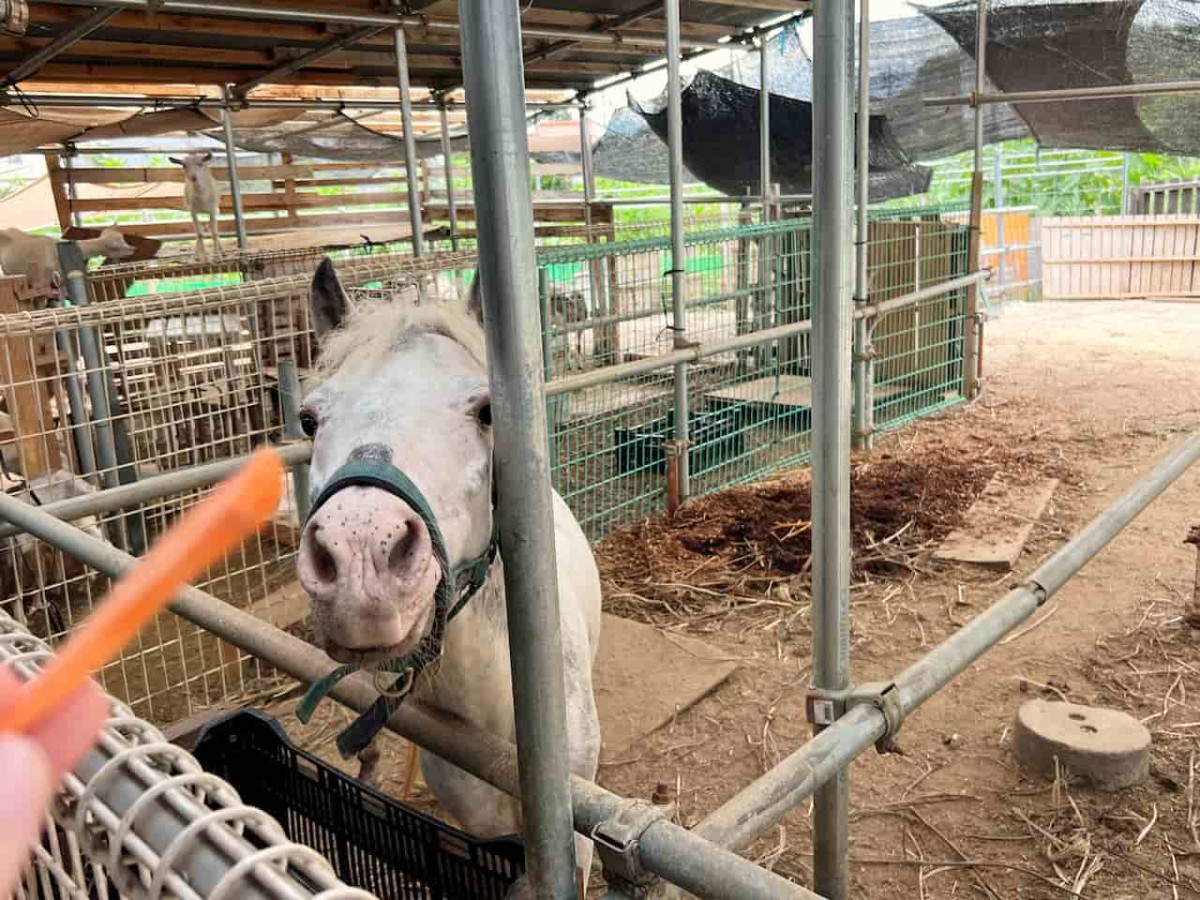
{"type": "MultiPolygon", "coordinates": [[[[137,559],[128,553],[4,493],[0,493],[0,520],[112,578],[120,577],[137,564],[137,559]]],[[[198,588],[184,588],[170,608],[300,682],[314,682],[335,668],[324,653],[306,641],[198,588]]],[[[340,682],[330,696],[364,712],[379,695],[373,679],[359,672],[340,682]]],[[[414,700],[400,707],[388,727],[493,787],[518,796],[516,748],[509,742],[414,700]]],[[[575,828],[587,835],[625,803],[617,794],[577,776],[571,778],[571,799],[575,828]]],[[[697,896],[713,900],[820,900],[816,894],[671,822],[652,824],[642,833],[638,848],[647,869],[697,896]]]]}

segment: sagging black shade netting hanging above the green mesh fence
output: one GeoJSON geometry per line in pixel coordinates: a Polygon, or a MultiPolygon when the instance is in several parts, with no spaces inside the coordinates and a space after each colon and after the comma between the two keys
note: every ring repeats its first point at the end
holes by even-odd
{"type": "MultiPolygon", "coordinates": [[[[755,88],[704,71],[683,90],[684,164],[706,184],[732,197],[756,194],[761,187],[758,94],[755,88]]],[[[630,104],[666,140],[666,109],[650,109],[632,98],[630,104]]],[[[872,199],[924,191],[930,173],[910,162],[883,116],[870,116],[869,130],[872,199]]],[[[811,192],[810,102],[770,95],[770,172],[772,181],[784,193],[811,192]]]]}

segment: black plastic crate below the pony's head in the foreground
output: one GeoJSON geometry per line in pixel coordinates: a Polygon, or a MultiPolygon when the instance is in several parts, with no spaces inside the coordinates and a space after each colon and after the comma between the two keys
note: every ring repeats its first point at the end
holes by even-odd
{"type": "Polygon", "coordinates": [[[380,900],[503,900],[524,872],[520,840],[479,841],[418,812],[296,749],[262,713],[211,722],[193,752],[342,881],[380,900]]]}

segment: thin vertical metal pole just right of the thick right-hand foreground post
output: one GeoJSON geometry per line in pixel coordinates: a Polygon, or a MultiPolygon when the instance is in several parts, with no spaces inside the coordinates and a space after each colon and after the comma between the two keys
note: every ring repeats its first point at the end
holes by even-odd
{"type": "MultiPolygon", "coordinates": [[[[871,223],[871,0],[858,5],[858,113],[854,132],[854,302],[870,302],[868,251],[871,223]]],[[[919,236],[918,236],[919,240],[919,236]]],[[[918,274],[920,270],[918,253],[918,274]]],[[[916,289],[916,288],[914,288],[916,289]]],[[[866,318],[854,320],[854,413],[852,440],[869,450],[875,440],[875,366],[871,329],[866,318]]]]}

